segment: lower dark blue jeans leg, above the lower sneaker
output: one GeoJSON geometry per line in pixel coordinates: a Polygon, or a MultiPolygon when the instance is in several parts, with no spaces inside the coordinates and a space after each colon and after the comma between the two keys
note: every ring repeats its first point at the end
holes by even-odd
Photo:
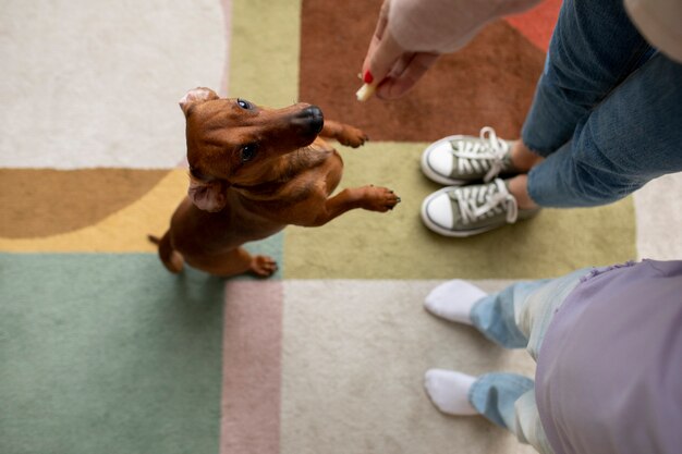
{"type": "Polygon", "coordinates": [[[682,171],[682,64],[649,59],[581,120],[572,140],[528,173],[543,207],[590,207],[682,171]]]}

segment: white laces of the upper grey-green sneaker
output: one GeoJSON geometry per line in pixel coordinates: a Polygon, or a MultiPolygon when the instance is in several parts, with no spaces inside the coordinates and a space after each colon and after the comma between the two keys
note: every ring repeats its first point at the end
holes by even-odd
{"type": "Polygon", "coordinates": [[[487,171],[483,181],[488,183],[497,176],[504,168],[504,156],[509,150],[509,145],[497,137],[495,130],[486,126],[480,130],[480,142],[459,140],[463,149],[453,150],[458,158],[458,169],[461,173],[472,173],[472,171],[487,171]]]}

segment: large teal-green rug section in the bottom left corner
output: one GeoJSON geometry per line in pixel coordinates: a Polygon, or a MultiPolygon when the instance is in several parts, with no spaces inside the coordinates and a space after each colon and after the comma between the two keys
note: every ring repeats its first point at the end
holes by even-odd
{"type": "Polygon", "coordinates": [[[0,453],[219,452],[224,281],[0,254],[0,453]]]}

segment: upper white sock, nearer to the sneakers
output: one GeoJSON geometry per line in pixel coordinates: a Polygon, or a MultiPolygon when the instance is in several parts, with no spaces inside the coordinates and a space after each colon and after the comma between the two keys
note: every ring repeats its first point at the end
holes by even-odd
{"type": "Polygon", "coordinates": [[[424,306],[435,316],[459,323],[472,324],[470,312],[474,303],[487,294],[466,281],[454,280],[438,285],[426,296],[424,306]]]}

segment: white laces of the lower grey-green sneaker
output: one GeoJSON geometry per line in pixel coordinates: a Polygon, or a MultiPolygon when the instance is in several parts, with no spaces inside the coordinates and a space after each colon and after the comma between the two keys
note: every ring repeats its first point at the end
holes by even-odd
{"type": "Polygon", "coordinates": [[[463,224],[475,222],[485,217],[492,217],[507,211],[507,222],[514,223],[519,217],[519,205],[509,194],[504,182],[496,179],[490,184],[463,186],[453,194],[460,207],[463,224]]]}

